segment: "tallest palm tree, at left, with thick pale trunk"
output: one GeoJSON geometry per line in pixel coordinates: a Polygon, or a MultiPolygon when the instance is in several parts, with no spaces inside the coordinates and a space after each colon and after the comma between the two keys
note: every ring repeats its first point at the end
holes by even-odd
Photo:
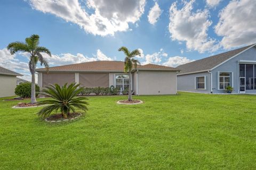
{"type": "Polygon", "coordinates": [[[41,65],[44,64],[46,69],[48,69],[49,65],[47,61],[43,58],[41,53],[46,53],[51,56],[51,52],[49,49],[45,47],[40,47],[39,45],[39,36],[31,35],[30,37],[25,39],[26,43],[22,43],[16,41],[14,43],[10,43],[7,46],[7,49],[10,50],[10,53],[13,55],[16,52],[27,52],[30,54],[29,61],[29,71],[31,73],[31,101],[30,103],[36,103],[36,90],[35,90],[35,70],[37,62],[41,62],[41,65]]]}

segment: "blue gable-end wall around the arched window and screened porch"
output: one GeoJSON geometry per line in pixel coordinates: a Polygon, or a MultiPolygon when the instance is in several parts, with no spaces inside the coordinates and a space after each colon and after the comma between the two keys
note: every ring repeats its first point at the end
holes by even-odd
{"type": "MultiPolygon", "coordinates": [[[[231,86],[234,88],[234,93],[238,92],[238,61],[254,61],[256,62],[256,48],[252,47],[249,50],[246,50],[244,53],[239,54],[238,56],[232,58],[226,63],[221,64],[220,66],[213,69],[212,72],[212,88],[213,93],[226,93],[225,90],[218,90],[218,71],[220,72],[233,72],[233,78],[231,77],[231,86]]],[[[246,93],[255,93],[256,90],[246,90],[246,93]]]]}

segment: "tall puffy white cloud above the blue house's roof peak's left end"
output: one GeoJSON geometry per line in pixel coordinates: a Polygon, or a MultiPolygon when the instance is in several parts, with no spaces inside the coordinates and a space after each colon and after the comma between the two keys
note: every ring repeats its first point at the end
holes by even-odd
{"type": "Polygon", "coordinates": [[[208,28],[212,24],[209,20],[208,10],[193,12],[193,3],[184,2],[179,10],[177,2],[170,7],[169,32],[172,40],[185,41],[190,50],[198,50],[199,53],[213,52],[219,48],[215,39],[207,35],[208,28]]]}

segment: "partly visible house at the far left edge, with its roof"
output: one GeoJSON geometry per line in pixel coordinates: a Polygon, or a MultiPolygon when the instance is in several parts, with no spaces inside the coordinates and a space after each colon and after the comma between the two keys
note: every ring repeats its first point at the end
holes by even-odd
{"type": "Polygon", "coordinates": [[[15,96],[17,76],[22,74],[0,67],[0,97],[15,96]]]}

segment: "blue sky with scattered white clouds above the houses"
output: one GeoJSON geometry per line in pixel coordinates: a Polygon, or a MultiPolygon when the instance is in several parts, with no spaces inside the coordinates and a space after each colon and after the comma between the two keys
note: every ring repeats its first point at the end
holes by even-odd
{"type": "Polygon", "coordinates": [[[38,34],[50,66],[122,61],[126,46],[141,50],[142,64],[175,67],[255,43],[255,8],[254,0],[1,1],[0,66],[29,80],[28,55],[6,46],[38,34]]]}

